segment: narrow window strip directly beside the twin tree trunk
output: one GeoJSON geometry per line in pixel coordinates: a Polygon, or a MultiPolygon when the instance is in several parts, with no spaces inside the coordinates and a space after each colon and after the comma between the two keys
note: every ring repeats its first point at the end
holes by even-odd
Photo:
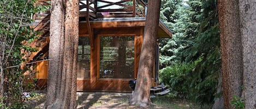
{"type": "Polygon", "coordinates": [[[90,79],[90,48],[89,37],[79,37],[78,79],[90,79]]]}

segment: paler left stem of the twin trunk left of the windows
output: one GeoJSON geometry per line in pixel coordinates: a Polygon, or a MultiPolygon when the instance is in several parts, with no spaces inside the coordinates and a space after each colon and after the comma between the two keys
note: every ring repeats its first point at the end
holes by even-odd
{"type": "Polygon", "coordinates": [[[64,40],[64,7],[63,2],[51,1],[50,43],[49,43],[49,73],[47,80],[47,95],[45,108],[51,108],[60,94],[62,74],[63,40],[64,40]]]}

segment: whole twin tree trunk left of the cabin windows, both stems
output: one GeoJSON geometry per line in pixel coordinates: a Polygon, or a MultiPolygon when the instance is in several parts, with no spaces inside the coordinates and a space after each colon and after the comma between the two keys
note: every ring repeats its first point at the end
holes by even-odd
{"type": "Polygon", "coordinates": [[[49,75],[44,108],[76,108],[79,0],[51,1],[49,75]]]}

